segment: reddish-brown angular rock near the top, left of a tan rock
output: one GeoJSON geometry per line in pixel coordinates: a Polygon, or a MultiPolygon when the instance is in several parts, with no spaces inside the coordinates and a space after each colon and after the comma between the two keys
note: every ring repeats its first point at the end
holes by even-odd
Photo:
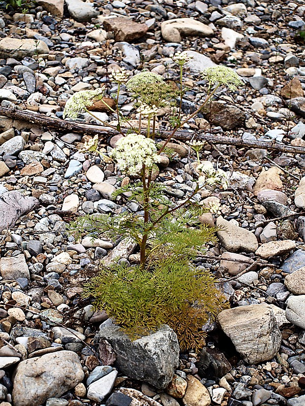
{"type": "Polygon", "coordinates": [[[143,37],[148,30],[146,24],[140,24],[124,17],[107,18],[104,20],[103,26],[106,31],[114,33],[115,41],[125,42],[143,37]]]}

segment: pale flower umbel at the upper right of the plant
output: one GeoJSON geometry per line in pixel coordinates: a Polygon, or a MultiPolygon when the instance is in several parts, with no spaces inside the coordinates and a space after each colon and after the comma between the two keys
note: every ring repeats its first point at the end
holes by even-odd
{"type": "Polygon", "coordinates": [[[236,90],[238,86],[242,86],[236,72],[228,66],[211,66],[207,67],[201,72],[202,78],[206,80],[209,85],[218,83],[223,86],[228,86],[232,91],[236,90]]]}

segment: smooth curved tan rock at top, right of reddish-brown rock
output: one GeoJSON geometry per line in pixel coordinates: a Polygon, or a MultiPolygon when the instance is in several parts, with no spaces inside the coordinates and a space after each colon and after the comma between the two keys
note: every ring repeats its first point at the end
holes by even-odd
{"type": "Polygon", "coordinates": [[[181,36],[211,37],[214,31],[193,18],[174,18],[161,23],[161,33],[167,42],[181,42],[181,36]]]}

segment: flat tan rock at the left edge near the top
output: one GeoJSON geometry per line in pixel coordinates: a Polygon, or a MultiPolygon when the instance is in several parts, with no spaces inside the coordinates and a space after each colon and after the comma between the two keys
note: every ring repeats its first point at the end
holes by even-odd
{"type": "Polygon", "coordinates": [[[48,54],[49,47],[43,41],[39,41],[37,46],[34,40],[18,40],[16,38],[4,38],[0,41],[0,57],[15,58],[21,60],[26,56],[38,54],[48,54]]]}

